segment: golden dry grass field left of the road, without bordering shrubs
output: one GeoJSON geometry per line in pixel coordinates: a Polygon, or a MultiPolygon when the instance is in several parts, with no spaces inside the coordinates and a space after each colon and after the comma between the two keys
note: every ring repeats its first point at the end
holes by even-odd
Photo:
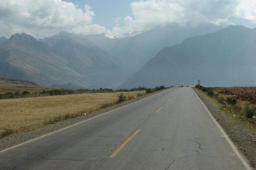
{"type": "MultiPolygon", "coordinates": [[[[90,113],[110,106],[117,100],[113,93],[44,96],[0,100],[0,136],[27,132],[55,121],[90,113]]],[[[141,96],[145,91],[123,92],[127,97],[141,96]]]]}

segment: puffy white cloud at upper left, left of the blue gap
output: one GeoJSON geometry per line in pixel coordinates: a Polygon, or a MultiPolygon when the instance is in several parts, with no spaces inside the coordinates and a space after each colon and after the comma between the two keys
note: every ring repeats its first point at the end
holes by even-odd
{"type": "Polygon", "coordinates": [[[105,27],[93,24],[94,15],[88,5],[81,9],[61,0],[1,0],[1,34],[26,32],[43,38],[61,30],[83,34],[105,32],[105,27]]]}

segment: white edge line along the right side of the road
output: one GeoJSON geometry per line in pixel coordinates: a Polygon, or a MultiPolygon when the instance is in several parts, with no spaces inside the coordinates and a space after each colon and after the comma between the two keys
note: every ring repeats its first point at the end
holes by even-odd
{"type": "MultiPolygon", "coordinates": [[[[191,87],[190,87],[191,88],[191,87]]],[[[194,89],[192,88],[192,90],[194,91],[194,89]]],[[[195,93],[195,91],[194,91],[195,93]]],[[[208,108],[205,106],[205,104],[202,102],[202,100],[199,98],[199,96],[197,95],[197,93],[195,93],[195,95],[197,96],[197,98],[200,100],[200,102],[202,103],[203,107],[205,108],[205,110],[208,112],[208,114],[210,115],[210,117],[212,118],[213,122],[215,123],[215,125],[217,125],[218,129],[220,130],[220,132],[222,133],[223,137],[225,137],[226,141],[228,141],[228,143],[230,144],[231,148],[233,149],[233,151],[235,152],[236,156],[241,160],[241,162],[243,163],[243,165],[248,169],[248,170],[252,170],[251,166],[248,164],[248,162],[245,160],[245,158],[240,154],[240,152],[238,151],[238,149],[236,148],[235,144],[230,140],[230,138],[228,137],[228,135],[226,134],[226,132],[223,130],[223,128],[220,126],[220,124],[217,122],[217,120],[212,116],[212,114],[210,113],[210,111],[208,110],[208,108]]]]}

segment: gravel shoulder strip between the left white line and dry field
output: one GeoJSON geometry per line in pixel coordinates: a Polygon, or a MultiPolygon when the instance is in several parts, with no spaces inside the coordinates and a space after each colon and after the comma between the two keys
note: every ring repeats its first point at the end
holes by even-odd
{"type": "MultiPolygon", "coordinates": [[[[167,90],[167,89],[164,89],[164,90],[167,90]]],[[[3,150],[3,149],[7,149],[7,148],[10,148],[12,146],[15,146],[17,144],[20,144],[20,143],[32,140],[33,138],[37,138],[39,136],[43,136],[43,135],[46,135],[48,133],[54,132],[54,131],[59,130],[61,128],[65,128],[65,127],[73,125],[75,123],[82,122],[84,120],[90,119],[92,117],[95,117],[97,115],[103,114],[105,112],[112,111],[114,109],[117,109],[119,107],[125,106],[127,104],[134,103],[136,101],[139,101],[139,100],[141,100],[143,98],[146,98],[148,96],[154,95],[154,94],[159,93],[159,92],[164,91],[164,90],[156,91],[154,93],[150,93],[150,94],[146,94],[146,95],[140,96],[139,98],[130,99],[130,100],[125,101],[123,103],[115,104],[113,106],[100,109],[100,110],[92,112],[92,113],[90,113],[90,114],[88,114],[86,116],[85,115],[81,115],[81,116],[75,117],[73,119],[63,120],[61,122],[57,122],[57,123],[54,123],[54,124],[51,124],[51,125],[47,125],[47,126],[45,126],[43,128],[32,130],[30,132],[19,133],[19,134],[15,134],[15,135],[4,137],[4,138],[0,139],[0,151],[3,150]]]]}

